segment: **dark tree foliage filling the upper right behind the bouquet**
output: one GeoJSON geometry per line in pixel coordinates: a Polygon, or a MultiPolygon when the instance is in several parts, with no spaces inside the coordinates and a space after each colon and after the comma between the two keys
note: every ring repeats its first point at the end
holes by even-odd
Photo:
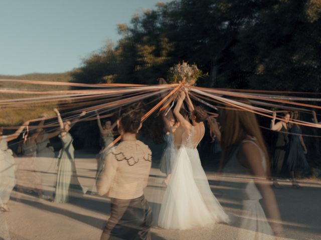
{"type": "Polygon", "coordinates": [[[209,87],[319,91],[319,0],[174,0],[119,24],[121,39],[84,59],[77,82],[153,84],[183,60],[209,87]]]}

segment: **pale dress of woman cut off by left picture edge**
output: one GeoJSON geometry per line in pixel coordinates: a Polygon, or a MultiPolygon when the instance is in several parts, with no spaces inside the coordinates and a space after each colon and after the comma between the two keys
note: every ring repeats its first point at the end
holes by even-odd
{"type": "Polygon", "coordinates": [[[8,148],[7,136],[0,141],[0,204],[7,203],[16,184],[15,159],[8,148]]]}

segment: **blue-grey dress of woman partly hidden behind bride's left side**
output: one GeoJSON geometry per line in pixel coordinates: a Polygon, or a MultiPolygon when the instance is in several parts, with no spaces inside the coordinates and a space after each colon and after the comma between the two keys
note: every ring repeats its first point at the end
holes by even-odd
{"type": "Polygon", "coordinates": [[[159,169],[161,169],[163,173],[170,174],[172,172],[172,166],[176,159],[177,151],[174,148],[173,134],[165,134],[164,138],[166,147],[161,158],[161,166],[159,167],[159,169]]]}

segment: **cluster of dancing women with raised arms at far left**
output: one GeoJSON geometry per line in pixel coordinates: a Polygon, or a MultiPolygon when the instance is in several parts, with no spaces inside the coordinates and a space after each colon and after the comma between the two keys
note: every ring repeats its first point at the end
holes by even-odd
{"type": "Polygon", "coordinates": [[[74,160],[73,137],[69,133],[71,127],[86,114],[82,112],[74,120],[63,121],[58,109],[57,113],[59,127],[53,132],[47,133],[43,128],[44,119],[42,117],[39,125],[35,129],[28,130],[29,123],[32,120],[24,122],[19,129],[10,135],[3,135],[3,129],[0,131],[1,149],[1,182],[0,182],[0,210],[10,211],[8,201],[13,188],[17,187],[17,200],[20,200],[22,192],[36,192],[39,198],[47,197],[54,202],[68,202],[70,196],[77,193],[85,193],[86,187],[79,183],[76,173],[74,160]],[[14,153],[8,147],[8,142],[19,137],[25,130],[24,136],[18,147],[18,152],[23,154],[19,164],[15,162],[14,153]],[[54,148],[50,144],[50,138],[58,136],[62,142],[62,148],[59,156],[55,158],[54,148]],[[54,166],[53,166],[54,165],[54,166]],[[41,170],[40,170],[41,169],[41,170]],[[42,172],[55,169],[57,177],[55,179],[55,190],[53,195],[45,196],[43,183],[46,177],[42,172]]]}

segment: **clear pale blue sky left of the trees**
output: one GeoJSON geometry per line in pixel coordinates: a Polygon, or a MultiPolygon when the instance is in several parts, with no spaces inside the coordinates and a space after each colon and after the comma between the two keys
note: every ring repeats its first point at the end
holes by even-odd
{"type": "Polygon", "coordinates": [[[170,0],[0,0],[0,74],[64,72],[119,39],[116,25],[170,0]]]}

